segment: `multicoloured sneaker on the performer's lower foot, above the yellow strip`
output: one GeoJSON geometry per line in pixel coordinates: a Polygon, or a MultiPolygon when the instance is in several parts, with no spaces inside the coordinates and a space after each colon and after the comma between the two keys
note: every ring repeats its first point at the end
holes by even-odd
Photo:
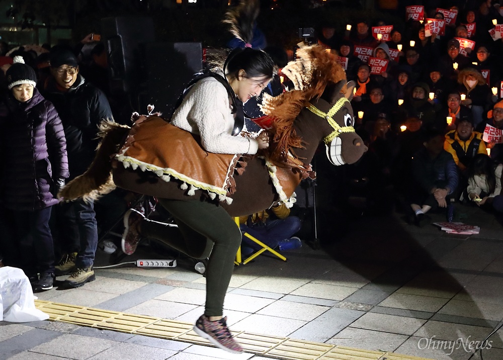
{"type": "Polygon", "coordinates": [[[227,317],[220,320],[210,321],[205,315],[201,315],[194,325],[194,331],[201,337],[208,339],[213,345],[222,350],[240,354],[243,348],[232,337],[226,323],[227,317]]]}

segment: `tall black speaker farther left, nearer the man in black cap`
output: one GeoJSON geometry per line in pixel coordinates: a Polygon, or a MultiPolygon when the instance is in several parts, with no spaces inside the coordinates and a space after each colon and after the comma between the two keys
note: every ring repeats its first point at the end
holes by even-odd
{"type": "Polygon", "coordinates": [[[153,21],[147,17],[104,18],[101,32],[108,53],[110,89],[131,93],[144,80],[144,46],[155,41],[153,21]]]}

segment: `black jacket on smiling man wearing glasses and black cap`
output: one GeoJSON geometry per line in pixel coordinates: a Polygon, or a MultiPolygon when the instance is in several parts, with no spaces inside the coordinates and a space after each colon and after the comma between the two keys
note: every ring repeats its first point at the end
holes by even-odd
{"type": "Polygon", "coordinates": [[[98,125],[104,119],[113,120],[112,110],[105,94],[81,75],[67,92],[60,91],[54,78],[49,78],[44,96],[54,104],[63,123],[72,179],[93,161],[99,143],[98,125]]]}

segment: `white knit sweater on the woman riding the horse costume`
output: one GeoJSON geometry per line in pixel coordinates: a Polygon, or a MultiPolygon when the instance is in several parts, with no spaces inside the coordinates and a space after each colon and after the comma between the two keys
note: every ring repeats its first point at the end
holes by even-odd
{"type": "Polygon", "coordinates": [[[199,80],[173,114],[171,123],[201,136],[206,151],[220,154],[255,154],[258,142],[232,136],[234,117],[225,87],[213,77],[199,80]]]}

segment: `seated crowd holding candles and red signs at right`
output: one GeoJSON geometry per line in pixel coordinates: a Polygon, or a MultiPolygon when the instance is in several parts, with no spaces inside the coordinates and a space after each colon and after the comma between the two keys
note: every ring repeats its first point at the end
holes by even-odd
{"type": "MultiPolygon", "coordinates": [[[[367,205],[382,209],[389,200],[379,194],[392,189],[396,197],[388,199],[420,226],[430,221],[426,213],[432,208],[445,208],[452,221],[456,201],[474,200],[489,211],[503,212],[498,176],[503,163],[503,45],[490,33],[503,23],[503,9],[490,1],[445,11],[434,6],[425,6],[420,17],[407,19],[403,27],[360,19],[348,24],[353,30],[337,34],[333,25],[324,24],[317,39],[336,53],[348,80],[356,83],[351,102],[355,127],[367,140],[364,157],[369,159],[351,166],[368,183],[367,205]],[[444,21],[446,11],[456,14],[455,21],[433,32],[429,24],[444,21]],[[389,25],[391,31],[377,35],[389,25]],[[474,42],[473,49],[463,47],[464,39],[474,42]],[[368,48],[370,56],[361,51],[368,48]],[[375,59],[386,60],[386,66],[374,66],[375,59]],[[495,185],[474,192],[468,184],[482,171],[475,169],[476,157],[487,158],[495,185]]],[[[400,16],[405,19],[408,13],[400,16]]]]}

